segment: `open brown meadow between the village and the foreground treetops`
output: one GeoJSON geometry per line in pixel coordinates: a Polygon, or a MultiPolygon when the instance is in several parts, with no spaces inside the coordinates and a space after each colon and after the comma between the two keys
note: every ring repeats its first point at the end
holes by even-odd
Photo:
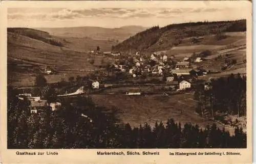
{"type": "MultiPolygon", "coordinates": [[[[147,96],[125,96],[115,95],[91,95],[94,102],[106,107],[116,107],[119,109],[118,117],[124,123],[130,123],[131,126],[138,127],[145,122],[152,127],[156,121],[166,122],[169,118],[184,125],[186,122],[198,124],[201,128],[207,124],[214,123],[210,120],[204,120],[195,113],[196,102],[192,94],[180,94],[164,96],[163,94],[147,96]]],[[[219,128],[225,127],[233,133],[233,128],[227,125],[216,123],[219,128]]]]}

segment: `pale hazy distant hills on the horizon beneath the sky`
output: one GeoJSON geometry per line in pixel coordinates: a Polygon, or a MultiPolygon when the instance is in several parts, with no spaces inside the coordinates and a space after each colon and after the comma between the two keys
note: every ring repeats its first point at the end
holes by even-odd
{"type": "Polygon", "coordinates": [[[75,38],[92,38],[93,40],[109,40],[121,42],[146,28],[142,26],[122,26],[121,28],[100,28],[93,26],[82,26],[74,28],[40,28],[38,30],[46,31],[54,36],[75,37],[75,38]]]}

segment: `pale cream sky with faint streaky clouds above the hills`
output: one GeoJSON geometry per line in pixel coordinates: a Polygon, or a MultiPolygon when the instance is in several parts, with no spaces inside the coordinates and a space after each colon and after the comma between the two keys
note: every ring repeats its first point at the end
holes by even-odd
{"type": "MultiPolygon", "coordinates": [[[[233,3],[233,2],[232,2],[233,3]]],[[[248,5],[224,3],[198,4],[193,7],[182,4],[144,5],[144,7],[84,7],[70,8],[8,8],[9,27],[60,28],[72,26],[100,26],[119,28],[125,25],[150,27],[172,23],[220,21],[246,18],[248,5]]]]}

